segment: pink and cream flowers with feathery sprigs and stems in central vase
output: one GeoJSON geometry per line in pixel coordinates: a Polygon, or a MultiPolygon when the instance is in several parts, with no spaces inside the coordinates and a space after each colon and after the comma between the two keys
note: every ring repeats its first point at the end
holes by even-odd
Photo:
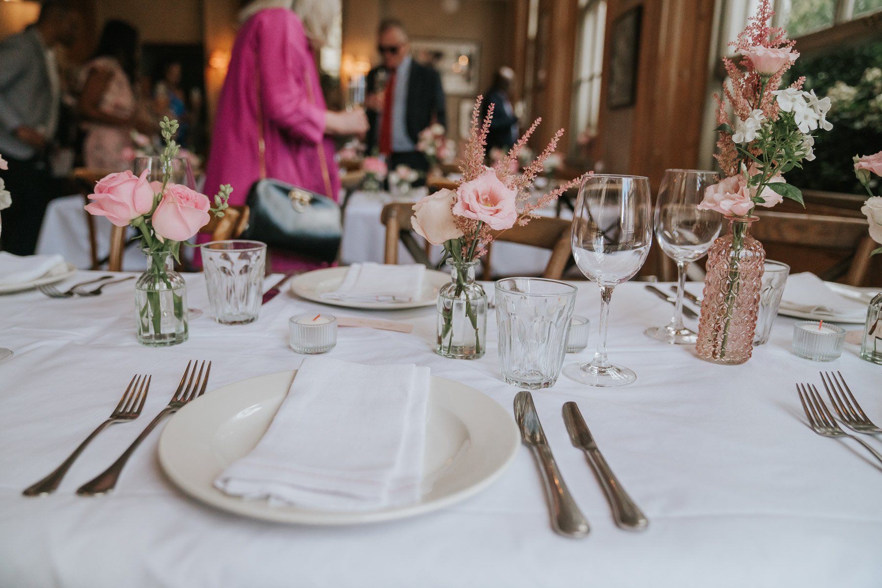
{"type": "MultiPolygon", "coordinates": [[[[524,226],[538,216],[538,210],[555,200],[564,191],[571,189],[582,181],[579,176],[565,182],[548,194],[531,199],[529,189],[535,178],[542,174],[544,163],[554,153],[557,142],[564,133],[558,130],[551,138],[549,145],[539,156],[518,173],[518,157],[527,145],[542,119],[536,119],[523,137],[505,154],[494,167],[486,167],[487,133],[493,118],[493,105],[487,110],[483,122],[479,122],[482,96],[475,101],[472,111],[471,130],[469,132],[465,157],[460,162],[462,181],[457,190],[438,190],[434,194],[423,197],[414,205],[414,216],[411,225],[417,234],[434,245],[443,245],[445,259],[451,264],[454,292],[452,298],[458,298],[466,290],[469,281],[469,267],[486,252],[487,246],[498,235],[515,225],[524,226]]],[[[590,174],[590,172],[588,173],[590,174]]],[[[586,175],[588,175],[586,174],[586,175]]],[[[440,295],[440,294],[439,294],[440,295]]],[[[440,309],[440,306],[439,306],[440,309]]],[[[438,327],[439,353],[446,345],[452,346],[453,316],[452,309],[439,310],[442,313],[438,327]]],[[[466,300],[465,314],[475,330],[475,354],[483,354],[481,349],[481,330],[478,322],[478,310],[466,300]]]]}

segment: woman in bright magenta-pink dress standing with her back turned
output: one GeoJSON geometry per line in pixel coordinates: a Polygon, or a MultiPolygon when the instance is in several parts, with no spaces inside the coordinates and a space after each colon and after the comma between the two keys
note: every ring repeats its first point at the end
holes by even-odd
{"type": "MultiPolygon", "coordinates": [[[[243,25],[214,121],[206,194],[228,183],[229,204],[245,204],[251,184],[261,177],[262,116],[265,177],[338,199],[340,175],[329,135],[363,135],[368,128],[361,110],[328,111],[318,83],[314,52],[338,11],[340,0],[254,0],[240,12],[243,25]]],[[[199,236],[206,242],[206,235],[199,236]]],[[[322,266],[278,251],[271,259],[275,271],[322,266]]]]}

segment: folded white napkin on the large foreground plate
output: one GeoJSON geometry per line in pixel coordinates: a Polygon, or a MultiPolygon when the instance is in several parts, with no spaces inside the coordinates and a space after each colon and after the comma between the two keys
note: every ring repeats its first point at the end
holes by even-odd
{"type": "Polygon", "coordinates": [[[377,510],[422,496],[429,368],[310,357],[251,452],[214,486],[318,510],[377,510]]]}

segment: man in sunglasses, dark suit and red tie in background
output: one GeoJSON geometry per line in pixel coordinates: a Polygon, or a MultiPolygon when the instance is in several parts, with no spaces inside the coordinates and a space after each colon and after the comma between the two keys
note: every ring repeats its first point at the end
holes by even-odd
{"type": "Polygon", "coordinates": [[[441,77],[410,56],[407,33],[398,20],[380,24],[377,49],[383,64],[368,72],[368,150],[385,155],[389,168],[404,164],[425,172],[429,162],[416,151],[420,131],[447,124],[441,77]]]}

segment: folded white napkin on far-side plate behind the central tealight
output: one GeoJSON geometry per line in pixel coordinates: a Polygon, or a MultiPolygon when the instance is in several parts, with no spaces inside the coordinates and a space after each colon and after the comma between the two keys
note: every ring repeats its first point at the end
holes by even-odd
{"type": "Polygon", "coordinates": [[[346,279],[322,298],[355,302],[411,302],[422,293],[426,266],[421,264],[352,264],[346,279]]]}

